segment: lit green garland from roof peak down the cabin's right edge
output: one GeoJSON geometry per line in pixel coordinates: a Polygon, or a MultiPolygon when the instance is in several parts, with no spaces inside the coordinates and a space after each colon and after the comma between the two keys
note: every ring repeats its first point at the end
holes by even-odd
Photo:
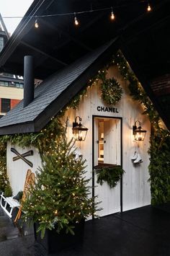
{"type": "Polygon", "coordinates": [[[143,104],[145,111],[151,121],[152,133],[150,138],[150,164],[148,167],[151,183],[151,203],[153,205],[166,203],[170,201],[170,133],[161,128],[160,117],[146,92],[130,70],[127,61],[119,51],[113,61],[120,70],[123,78],[129,82],[128,89],[134,100],[143,104]]]}

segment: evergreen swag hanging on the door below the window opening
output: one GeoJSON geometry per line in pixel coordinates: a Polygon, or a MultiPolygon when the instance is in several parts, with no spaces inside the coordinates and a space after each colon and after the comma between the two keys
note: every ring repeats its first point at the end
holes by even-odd
{"type": "Polygon", "coordinates": [[[125,172],[120,165],[114,167],[98,167],[95,170],[97,173],[97,183],[103,185],[103,182],[107,182],[110,188],[117,185],[120,177],[125,172]]]}

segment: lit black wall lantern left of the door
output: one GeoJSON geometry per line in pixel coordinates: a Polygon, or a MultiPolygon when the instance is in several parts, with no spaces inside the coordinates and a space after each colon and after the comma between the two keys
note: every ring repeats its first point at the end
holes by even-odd
{"type": "Polygon", "coordinates": [[[81,118],[76,116],[75,122],[73,122],[73,137],[75,140],[85,141],[87,131],[88,128],[86,128],[84,125],[81,125],[81,118]],[[79,123],[77,122],[77,118],[79,118],[79,123]]]}

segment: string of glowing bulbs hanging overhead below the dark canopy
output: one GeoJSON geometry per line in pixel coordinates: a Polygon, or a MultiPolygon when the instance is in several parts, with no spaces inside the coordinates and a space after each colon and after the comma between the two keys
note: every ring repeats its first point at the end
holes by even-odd
{"type": "MultiPolygon", "coordinates": [[[[115,14],[113,12],[113,7],[108,7],[108,8],[104,8],[104,9],[91,9],[89,11],[82,11],[82,12],[69,12],[69,13],[63,13],[63,14],[45,14],[45,15],[36,15],[36,16],[25,16],[24,18],[33,18],[35,17],[35,28],[39,27],[39,23],[38,23],[38,18],[42,18],[42,17],[57,17],[57,16],[68,16],[68,15],[73,15],[73,22],[74,25],[76,25],[76,27],[79,26],[79,19],[77,19],[76,15],[78,14],[85,14],[85,13],[90,13],[90,12],[101,12],[101,11],[106,11],[106,10],[110,10],[110,19],[113,21],[115,20],[115,14]]],[[[151,5],[148,3],[147,5],[147,12],[151,12],[151,5]]],[[[9,19],[9,18],[23,18],[23,17],[3,17],[3,19],[9,19]]]]}

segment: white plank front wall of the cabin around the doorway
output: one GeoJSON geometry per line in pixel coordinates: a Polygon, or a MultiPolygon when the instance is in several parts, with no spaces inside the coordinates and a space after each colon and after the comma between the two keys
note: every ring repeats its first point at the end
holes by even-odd
{"type": "MultiPolygon", "coordinates": [[[[68,110],[66,116],[68,117],[68,138],[72,137],[72,123],[77,115],[82,118],[82,124],[89,128],[86,136],[86,141],[76,141],[76,146],[80,149],[81,153],[86,159],[86,177],[92,177],[92,116],[106,116],[113,118],[122,118],[122,168],[125,170],[125,174],[122,177],[122,211],[128,211],[133,208],[146,206],[151,203],[150,184],[148,182],[148,164],[149,164],[149,138],[150,138],[150,122],[146,115],[143,115],[143,107],[135,102],[128,92],[127,81],[122,79],[119,72],[115,67],[109,69],[108,78],[114,76],[117,81],[120,82],[123,88],[122,100],[112,107],[117,108],[117,112],[101,112],[97,110],[98,106],[107,106],[102,102],[98,86],[93,86],[87,89],[87,94],[84,99],[81,99],[81,104],[77,110],[68,110]],[[145,141],[136,142],[133,140],[133,125],[136,120],[142,123],[142,127],[146,129],[145,141]],[[138,165],[134,165],[131,157],[134,152],[138,151],[142,157],[143,162],[138,165]]],[[[99,213],[100,216],[104,216],[110,213],[120,211],[120,195],[117,194],[117,190],[120,191],[120,182],[117,187],[113,189],[107,189],[104,191],[104,186],[101,187],[97,184],[97,177],[94,177],[94,184],[97,188],[94,190],[95,195],[99,193],[99,201],[102,200],[100,206],[104,208],[99,213]],[[112,202],[109,197],[112,197],[112,190],[115,190],[115,197],[112,202]],[[101,192],[102,191],[102,192],[101,192]],[[107,202],[107,203],[106,203],[107,202]],[[109,206],[112,206],[112,210],[109,206]]],[[[108,186],[108,185],[107,185],[108,186]]]]}

